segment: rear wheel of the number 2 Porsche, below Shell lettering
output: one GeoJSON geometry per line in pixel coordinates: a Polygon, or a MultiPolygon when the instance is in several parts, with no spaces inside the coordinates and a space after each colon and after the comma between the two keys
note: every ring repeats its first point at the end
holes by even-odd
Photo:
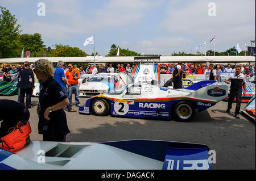
{"type": "Polygon", "coordinates": [[[195,107],[186,101],[181,101],[175,104],[172,113],[174,113],[177,121],[188,122],[195,116],[195,107]]]}

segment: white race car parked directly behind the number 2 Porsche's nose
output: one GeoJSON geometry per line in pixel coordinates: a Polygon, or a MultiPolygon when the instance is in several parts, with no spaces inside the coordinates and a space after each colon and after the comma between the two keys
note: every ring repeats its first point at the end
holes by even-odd
{"type": "Polygon", "coordinates": [[[94,75],[88,82],[79,87],[80,96],[94,96],[104,94],[110,90],[119,89],[129,81],[125,73],[100,73],[94,75]]]}

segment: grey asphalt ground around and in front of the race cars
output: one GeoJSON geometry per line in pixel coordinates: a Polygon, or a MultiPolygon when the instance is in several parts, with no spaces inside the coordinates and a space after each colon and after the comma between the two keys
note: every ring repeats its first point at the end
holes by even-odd
{"type": "MultiPolygon", "coordinates": [[[[0,96],[0,99],[17,100],[15,96],[0,96]]],[[[84,104],[88,98],[80,98],[84,104]]],[[[121,117],[99,117],[68,112],[64,108],[71,133],[66,141],[101,142],[118,140],[165,140],[206,144],[216,151],[216,163],[212,169],[255,169],[255,123],[240,115],[234,117],[236,103],[230,113],[226,113],[227,102],[219,102],[203,112],[196,112],[192,122],[181,123],[175,120],[147,120],[121,117]]],[[[31,140],[43,140],[38,134],[38,98],[32,97],[30,108],[31,140]]],[[[241,104],[241,109],[246,104],[241,104]]],[[[10,115],[11,116],[11,115],[10,115]]]]}

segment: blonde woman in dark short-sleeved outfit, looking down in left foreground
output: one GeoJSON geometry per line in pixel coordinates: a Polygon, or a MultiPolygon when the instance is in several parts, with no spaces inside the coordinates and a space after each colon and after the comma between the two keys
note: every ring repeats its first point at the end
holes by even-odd
{"type": "Polygon", "coordinates": [[[52,62],[45,59],[35,62],[34,73],[41,83],[38,131],[44,141],[65,141],[69,129],[63,108],[68,106],[69,100],[53,78],[53,71],[52,62]]]}

